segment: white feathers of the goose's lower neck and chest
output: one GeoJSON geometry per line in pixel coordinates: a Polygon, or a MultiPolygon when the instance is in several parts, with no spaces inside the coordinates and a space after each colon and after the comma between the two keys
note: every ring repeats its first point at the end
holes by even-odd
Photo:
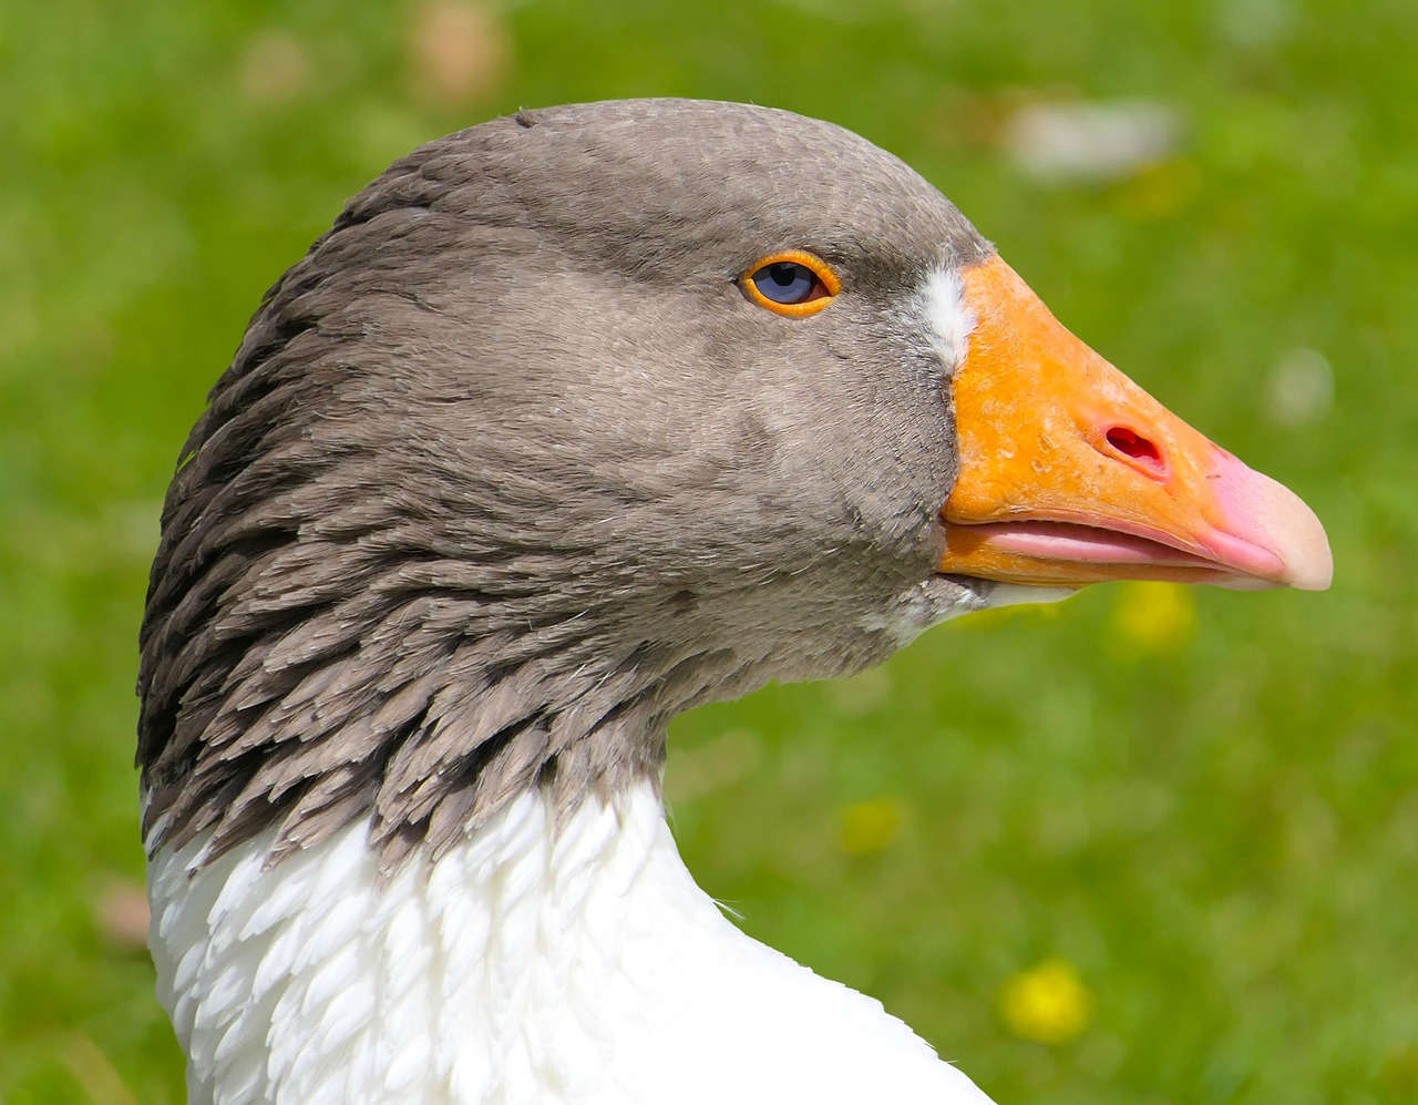
{"type": "Polygon", "coordinates": [[[559,830],[535,794],[380,884],[367,826],[262,870],[153,857],[191,1102],[674,1105],[987,1098],[882,1007],[749,939],[649,787],[559,830]]]}

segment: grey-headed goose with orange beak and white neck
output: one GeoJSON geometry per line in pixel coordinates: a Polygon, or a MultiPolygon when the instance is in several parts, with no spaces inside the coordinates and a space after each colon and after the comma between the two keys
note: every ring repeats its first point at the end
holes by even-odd
{"type": "Polygon", "coordinates": [[[166,498],[138,765],[190,1101],[987,1102],[695,884],[666,723],[1093,582],[1330,574],[848,131],[431,142],[267,292],[166,498]]]}

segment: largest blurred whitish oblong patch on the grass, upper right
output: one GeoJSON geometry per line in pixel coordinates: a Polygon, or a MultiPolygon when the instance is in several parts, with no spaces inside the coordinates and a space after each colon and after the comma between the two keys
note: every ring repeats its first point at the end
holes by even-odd
{"type": "Polygon", "coordinates": [[[1004,129],[1004,146],[1032,176],[1112,180],[1163,160],[1181,138],[1177,112],[1156,101],[1031,104],[1004,129]]]}

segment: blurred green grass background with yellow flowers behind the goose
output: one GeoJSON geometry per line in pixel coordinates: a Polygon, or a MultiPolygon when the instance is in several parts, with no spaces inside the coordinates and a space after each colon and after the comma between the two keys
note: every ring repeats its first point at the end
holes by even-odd
{"type": "Polygon", "coordinates": [[[261,292],[420,142],[624,95],[899,153],[1339,566],[1096,587],[682,719],[702,885],[1001,1102],[1418,1101],[1411,0],[0,9],[0,1101],[182,1099],[135,638],[261,292]]]}

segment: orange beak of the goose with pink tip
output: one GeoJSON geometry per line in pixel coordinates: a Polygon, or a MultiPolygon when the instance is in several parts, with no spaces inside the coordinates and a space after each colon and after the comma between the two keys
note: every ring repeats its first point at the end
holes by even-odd
{"type": "Polygon", "coordinates": [[[1319,519],[1069,333],[998,257],[963,274],[960,477],[940,570],[1038,586],[1153,579],[1324,590],[1319,519]]]}

